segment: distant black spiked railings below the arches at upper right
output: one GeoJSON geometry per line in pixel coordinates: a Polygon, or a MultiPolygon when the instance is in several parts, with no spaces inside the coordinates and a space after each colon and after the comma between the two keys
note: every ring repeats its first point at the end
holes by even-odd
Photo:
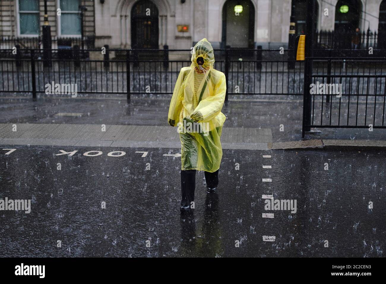
{"type": "Polygon", "coordinates": [[[315,41],[317,48],[368,49],[372,47],[374,49],[385,49],[386,31],[317,31],[315,41]]]}

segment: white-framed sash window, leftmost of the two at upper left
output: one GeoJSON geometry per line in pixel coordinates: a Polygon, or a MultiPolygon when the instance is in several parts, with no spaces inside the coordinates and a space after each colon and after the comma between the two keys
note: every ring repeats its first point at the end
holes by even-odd
{"type": "Polygon", "coordinates": [[[39,34],[39,0],[19,0],[20,35],[39,34]]]}

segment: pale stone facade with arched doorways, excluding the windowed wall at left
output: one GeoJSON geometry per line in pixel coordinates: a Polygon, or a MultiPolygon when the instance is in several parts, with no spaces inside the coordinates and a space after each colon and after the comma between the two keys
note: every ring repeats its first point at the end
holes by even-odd
{"type": "MultiPolygon", "coordinates": [[[[362,31],[377,31],[379,17],[383,12],[380,11],[381,2],[382,0],[317,0],[316,27],[318,30],[333,31],[347,25],[345,22],[349,21],[351,30],[358,26],[362,31]],[[349,7],[349,11],[345,12],[343,9],[341,12],[342,6],[349,7]]],[[[134,10],[141,10],[138,10],[138,6],[148,7],[150,15],[155,17],[145,30],[135,28],[141,31],[141,35],[142,32],[151,35],[153,31],[158,43],[154,47],[168,45],[174,49],[191,46],[203,37],[217,48],[225,45],[240,48],[256,45],[262,45],[263,48],[286,46],[291,9],[295,9],[293,13],[299,26],[298,32],[305,25],[307,14],[305,0],[106,0],[103,4],[96,1],[97,37],[107,39],[112,47],[130,48],[135,34],[132,26],[134,10]],[[238,16],[234,12],[236,5],[243,7],[238,16]],[[156,11],[153,11],[154,7],[156,11]],[[185,26],[185,31],[178,26],[185,26]]],[[[142,22],[146,22],[146,14],[140,18],[142,22]]]]}

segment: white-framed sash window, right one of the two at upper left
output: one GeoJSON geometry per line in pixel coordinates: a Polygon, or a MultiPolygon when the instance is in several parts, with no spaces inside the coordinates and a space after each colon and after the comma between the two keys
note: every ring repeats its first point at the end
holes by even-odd
{"type": "Polygon", "coordinates": [[[60,0],[60,33],[77,36],[80,31],[80,0],[60,0]]]}

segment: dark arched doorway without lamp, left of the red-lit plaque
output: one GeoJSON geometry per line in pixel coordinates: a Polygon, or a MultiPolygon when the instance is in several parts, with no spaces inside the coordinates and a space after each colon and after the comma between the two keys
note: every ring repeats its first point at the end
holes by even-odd
{"type": "Polygon", "coordinates": [[[158,48],[158,9],[149,0],[140,0],[131,9],[132,48],[158,48]]]}

